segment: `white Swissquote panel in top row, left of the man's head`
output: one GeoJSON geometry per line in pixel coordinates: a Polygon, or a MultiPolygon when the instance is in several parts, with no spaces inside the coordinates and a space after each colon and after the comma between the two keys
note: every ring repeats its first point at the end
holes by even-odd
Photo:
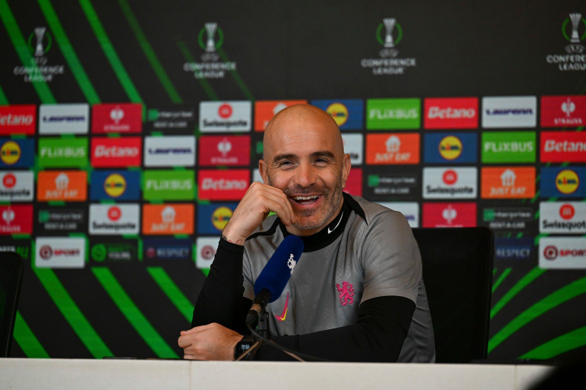
{"type": "Polygon", "coordinates": [[[250,132],[252,103],[249,101],[200,102],[199,130],[209,132],[250,132]]]}

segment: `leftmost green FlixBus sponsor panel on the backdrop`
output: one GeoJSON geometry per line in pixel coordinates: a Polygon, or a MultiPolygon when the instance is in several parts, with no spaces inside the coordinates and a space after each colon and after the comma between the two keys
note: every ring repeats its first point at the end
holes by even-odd
{"type": "Polygon", "coordinates": [[[44,168],[86,167],[87,137],[40,138],[39,165],[44,168]]]}

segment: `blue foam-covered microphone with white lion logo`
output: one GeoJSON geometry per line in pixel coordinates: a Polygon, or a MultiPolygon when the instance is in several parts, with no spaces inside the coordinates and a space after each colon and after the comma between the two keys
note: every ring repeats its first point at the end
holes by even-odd
{"type": "Polygon", "coordinates": [[[303,249],[303,241],[297,236],[285,237],[277,247],[254,282],[255,297],[246,315],[247,323],[255,324],[267,304],[281,296],[303,249]]]}

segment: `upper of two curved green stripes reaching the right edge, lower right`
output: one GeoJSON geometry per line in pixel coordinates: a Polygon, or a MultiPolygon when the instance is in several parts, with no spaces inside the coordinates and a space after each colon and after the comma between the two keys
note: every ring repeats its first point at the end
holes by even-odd
{"type": "Polygon", "coordinates": [[[523,313],[515,317],[511,322],[507,325],[503,326],[502,329],[499,330],[492,336],[492,339],[488,341],[488,351],[492,351],[496,348],[500,343],[505,341],[507,337],[511,334],[517,332],[517,330],[521,329],[527,323],[531,322],[532,320],[536,319],[543,313],[547,312],[555,308],[561,303],[568,301],[575,296],[584,294],[586,292],[586,277],[578,279],[557,291],[552,292],[550,295],[546,296],[545,298],[541,299],[541,301],[535,303],[529,309],[525,310],[523,313]]]}

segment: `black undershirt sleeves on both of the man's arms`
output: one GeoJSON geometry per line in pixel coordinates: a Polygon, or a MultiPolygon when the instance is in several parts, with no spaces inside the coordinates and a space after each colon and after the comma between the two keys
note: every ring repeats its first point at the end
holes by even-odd
{"type": "MultiPolygon", "coordinates": [[[[210,273],[193,309],[192,326],[219,323],[248,334],[244,318],[252,301],[244,298],[244,247],[220,239],[210,273]]],[[[272,339],[304,354],[334,361],[394,362],[415,311],[415,303],[402,296],[379,296],[362,302],[355,324],[272,339]]],[[[257,360],[293,360],[271,346],[261,346],[257,360]]]]}

